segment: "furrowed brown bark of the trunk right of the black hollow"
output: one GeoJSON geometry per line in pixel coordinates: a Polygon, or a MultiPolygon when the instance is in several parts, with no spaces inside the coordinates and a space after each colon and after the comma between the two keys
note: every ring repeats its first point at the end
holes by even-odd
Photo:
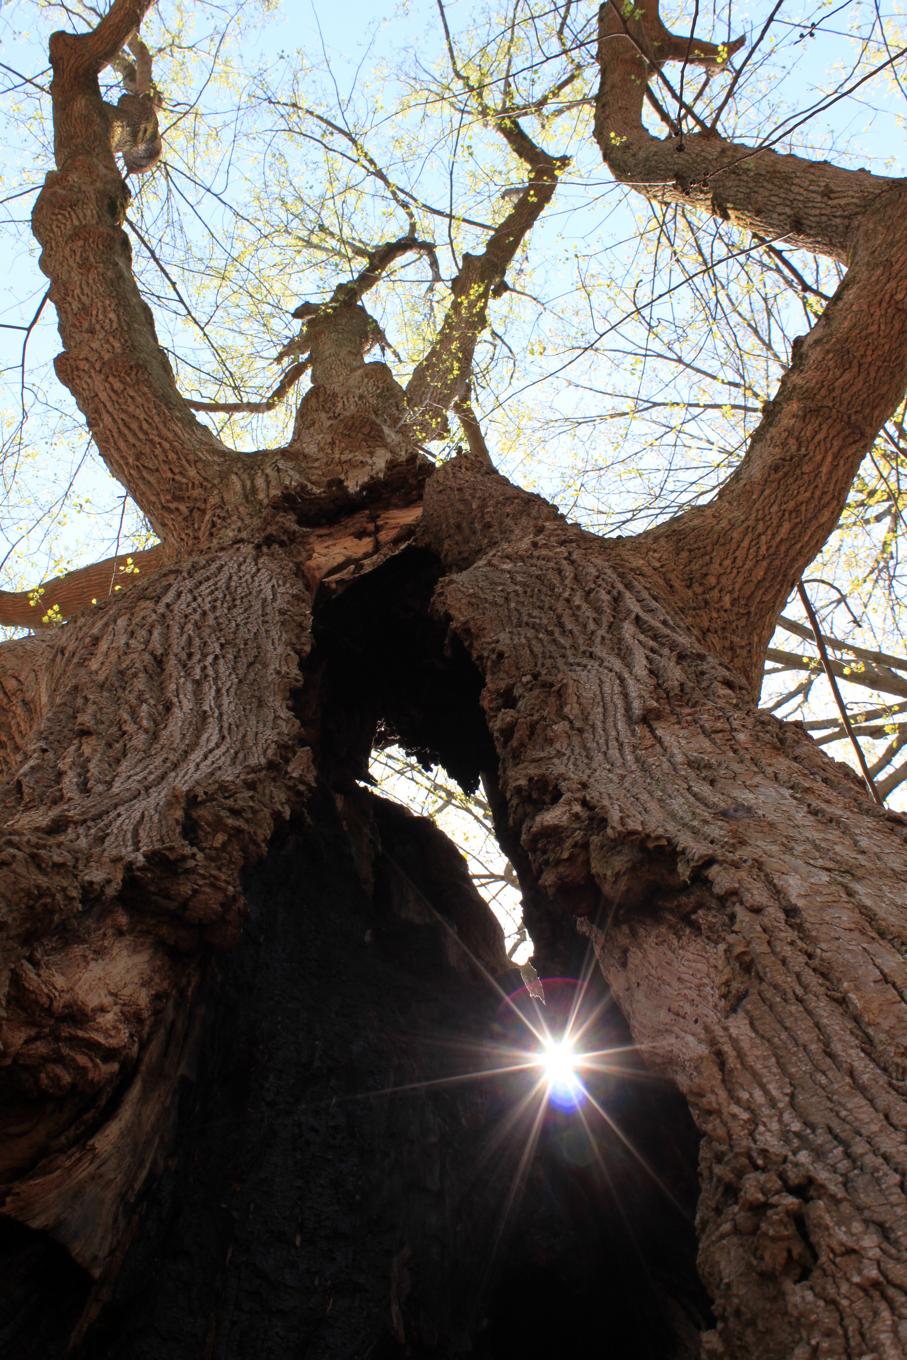
{"type": "Polygon", "coordinates": [[[755,710],[642,544],[458,464],[435,608],[485,679],[502,839],[703,1133],[707,1353],[903,1355],[904,819],[755,710]]]}

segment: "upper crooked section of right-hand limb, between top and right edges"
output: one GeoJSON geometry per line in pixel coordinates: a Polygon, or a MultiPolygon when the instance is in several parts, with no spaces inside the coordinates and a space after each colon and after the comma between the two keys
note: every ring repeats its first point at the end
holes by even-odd
{"type": "MultiPolygon", "coordinates": [[[[596,140],[615,178],[657,203],[695,205],[759,235],[783,237],[790,246],[846,261],[859,222],[889,180],[725,141],[711,129],[665,140],[646,131],[649,80],[665,61],[684,61],[688,41],[668,33],[657,0],[645,0],[628,18],[612,0],[602,4],[596,140]]],[[[695,39],[689,63],[719,68],[741,41],[719,48],[695,39]]]]}

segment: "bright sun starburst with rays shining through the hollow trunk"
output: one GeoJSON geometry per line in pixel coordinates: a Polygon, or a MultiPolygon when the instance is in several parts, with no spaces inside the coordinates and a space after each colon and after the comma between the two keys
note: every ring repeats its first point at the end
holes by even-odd
{"type": "MultiPolygon", "coordinates": [[[[431,910],[449,929],[441,914],[431,910]]],[[[468,947],[466,952],[470,952],[468,947]]],[[[635,1163],[635,1175],[657,1187],[662,1202],[669,1201],[687,1220],[689,1212],[631,1132],[635,1098],[630,1084],[651,1085],[658,1078],[640,1061],[640,1050],[626,1042],[620,1021],[609,1015],[613,1002],[594,956],[587,955],[578,978],[545,978],[544,1004],[525,985],[513,991],[502,989],[477,959],[473,964],[498,994],[494,1019],[490,1023],[479,1020],[472,1038],[462,1030],[457,1036],[449,1030],[445,1032],[443,1021],[434,1035],[423,1030],[426,1051],[434,1050],[438,1058],[438,1066],[431,1062],[434,1073],[426,1073],[423,1080],[412,1073],[412,1078],[403,1083],[392,1078],[379,1089],[345,1099],[405,1099],[417,1098],[420,1092],[426,1096],[435,1092],[435,1098],[443,1099],[445,1088],[449,1091],[454,1104],[443,1121],[449,1127],[469,1129],[458,1137],[466,1137],[473,1149],[464,1191],[479,1193],[488,1200],[490,1208],[494,1205],[494,1227],[483,1253],[487,1285],[495,1274],[506,1235],[513,1231],[529,1178],[547,1176],[549,1171],[544,1168],[551,1168],[552,1157],[563,1163],[567,1176],[579,1176],[582,1185],[590,1176],[597,1178],[605,1187],[594,1194],[604,1193],[613,1204],[631,1250],[646,1270],[645,1253],[636,1242],[635,1213],[630,1202],[621,1202],[631,1185],[627,1180],[630,1166],[635,1163]],[[617,1036],[615,1028],[623,1042],[609,1046],[609,1035],[617,1036]],[[465,1095],[466,1087],[473,1087],[475,1096],[465,1095]]],[[[405,1050],[409,1035],[400,1038],[405,1050]]],[[[583,1197],[587,1193],[592,1193],[592,1182],[582,1191],[583,1197]]],[[[638,1202],[635,1191],[630,1198],[638,1202]]]]}

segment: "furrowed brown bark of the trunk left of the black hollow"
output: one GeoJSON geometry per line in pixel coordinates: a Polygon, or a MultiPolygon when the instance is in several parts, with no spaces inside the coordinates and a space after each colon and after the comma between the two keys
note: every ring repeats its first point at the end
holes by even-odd
{"type": "Polygon", "coordinates": [[[313,787],[290,703],[311,592],[412,518],[277,517],[268,548],[3,647],[3,1210],[92,1273],[163,1136],[200,957],[237,940],[239,873],[313,787]]]}

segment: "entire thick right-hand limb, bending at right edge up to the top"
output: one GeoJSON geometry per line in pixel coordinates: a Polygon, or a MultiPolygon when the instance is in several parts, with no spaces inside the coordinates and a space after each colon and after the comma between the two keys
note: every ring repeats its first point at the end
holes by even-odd
{"type": "MultiPolygon", "coordinates": [[[[676,137],[660,141],[642,126],[645,86],[658,63],[684,60],[688,39],[666,34],[657,0],[643,0],[640,20],[606,0],[600,19],[596,135],[619,178],[850,264],[794,341],[740,468],[710,505],[638,540],[710,650],[759,692],[783,602],[907,386],[907,184],[713,136],[687,136],[683,152],[676,137]]],[[[692,49],[699,64],[725,54],[699,41],[692,49]]]]}

